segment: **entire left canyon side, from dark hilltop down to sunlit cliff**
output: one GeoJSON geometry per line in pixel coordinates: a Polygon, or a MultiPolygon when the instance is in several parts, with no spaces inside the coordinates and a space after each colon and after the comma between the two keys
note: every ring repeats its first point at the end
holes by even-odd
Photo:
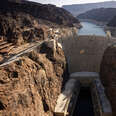
{"type": "Polygon", "coordinates": [[[73,36],[79,21],[53,5],[0,3],[0,115],[53,116],[68,79],[62,45],[54,39],[73,36]],[[49,42],[1,66],[46,39],[49,42]]]}

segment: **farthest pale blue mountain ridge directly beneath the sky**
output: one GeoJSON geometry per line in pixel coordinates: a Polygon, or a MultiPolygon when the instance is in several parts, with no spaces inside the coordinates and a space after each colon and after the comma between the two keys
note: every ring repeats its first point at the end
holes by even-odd
{"type": "Polygon", "coordinates": [[[97,9],[97,8],[116,8],[116,1],[99,2],[99,3],[88,3],[88,4],[75,4],[75,5],[64,5],[64,9],[71,12],[74,16],[82,14],[86,11],[97,9]]]}

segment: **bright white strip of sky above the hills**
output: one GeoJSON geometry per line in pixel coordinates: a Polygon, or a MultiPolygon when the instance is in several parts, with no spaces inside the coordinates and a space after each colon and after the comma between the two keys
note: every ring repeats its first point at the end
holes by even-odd
{"type": "Polygon", "coordinates": [[[55,4],[56,6],[61,7],[62,5],[68,5],[68,4],[95,3],[95,2],[103,2],[110,0],[29,0],[29,1],[39,2],[43,4],[55,4]]]}

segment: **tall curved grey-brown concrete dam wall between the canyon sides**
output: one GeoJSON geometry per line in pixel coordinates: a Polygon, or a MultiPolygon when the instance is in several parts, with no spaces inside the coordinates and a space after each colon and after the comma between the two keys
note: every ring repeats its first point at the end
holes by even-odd
{"type": "Polygon", "coordinates": [[[105,49],[116,42],[101,36],[68,36],[60,40],[68,61],[69,72],[99,72],[105,49]]]}

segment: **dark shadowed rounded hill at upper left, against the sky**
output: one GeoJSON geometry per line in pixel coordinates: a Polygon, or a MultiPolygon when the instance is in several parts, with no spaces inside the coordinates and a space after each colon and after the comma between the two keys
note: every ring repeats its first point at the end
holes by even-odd
{"type": "MultiPolygon", "coordinates": [[[[79,21],[73,17],[68,11],[63,8],[56,7],[54,5],[43,5],[40,3],[24,1],[22,3],[8,2],[8,0],[4,0],[0,2],[1,12],[9,12],[9,13],[19,13],[25,12],[27,14],[36,17],[37,19],[42,19],[47,23],[55,23],[63,26],[72,27],[73,24],[79,23],[79,21]],[[6,3],[5,3],[6,1],[6,3]],[[4,5],[3,5],[4,4],[4,5]]],[[[43,22],[44,22],[43,21],[43,22]]],[[[45,23],[44,22],[44,23],[45,23]]]]}

